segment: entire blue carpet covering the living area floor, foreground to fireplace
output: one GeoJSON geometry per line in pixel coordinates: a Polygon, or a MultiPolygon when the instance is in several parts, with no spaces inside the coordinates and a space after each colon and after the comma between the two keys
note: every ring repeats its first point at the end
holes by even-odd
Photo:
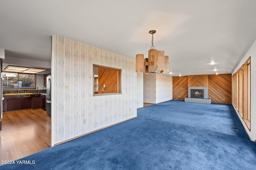
{"type": "Polygon", "coordinates": [[[138,109],[135,119],[20,159],[35,164],[0,169],[255,169],[256,145],[244,138],[235,114],[230,105],[172,100],[138,109]],[[240,135],[230,133],[232,127],[240,135]]]}

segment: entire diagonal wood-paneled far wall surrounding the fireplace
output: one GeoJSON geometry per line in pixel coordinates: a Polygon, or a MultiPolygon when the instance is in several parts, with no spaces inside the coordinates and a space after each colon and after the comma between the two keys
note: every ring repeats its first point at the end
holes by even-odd
{"type": "Polygon", "coordinates": [[[208,98],[212,99],[212,103],[232,102],[231,74],[172,77],[173,100],[187,98],[188,87],[208,87],[208,98]]]}

